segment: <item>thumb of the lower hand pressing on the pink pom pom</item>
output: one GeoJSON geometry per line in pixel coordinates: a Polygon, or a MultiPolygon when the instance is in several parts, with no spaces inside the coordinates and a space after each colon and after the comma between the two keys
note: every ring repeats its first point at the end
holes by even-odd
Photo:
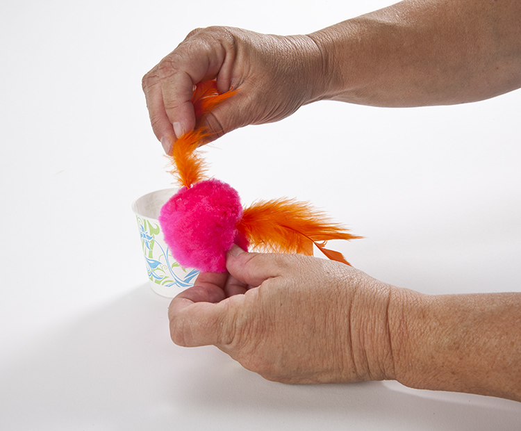
{"type": "Polygon", "coordinates": [[[282,275],[285,254],[249,253],[233,245],[226,255],[226,269],[239,282],[258,287],[267,279],[282,275]]]}

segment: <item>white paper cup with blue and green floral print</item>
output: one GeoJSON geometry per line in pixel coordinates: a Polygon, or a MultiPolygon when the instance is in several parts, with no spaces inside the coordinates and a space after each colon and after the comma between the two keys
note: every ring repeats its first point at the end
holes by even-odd
{"type": "Polygon", "coordinates": [[[132,211],[138,220],[141,247],[152,290],[158,295],[174,298],[185,288],[194,285],[199,270],[181,268],[168,246],[165,244],[158,216],[161,206],[169,200],[177,189],[166,188],[147,193],[132,204],[132,211]]]}

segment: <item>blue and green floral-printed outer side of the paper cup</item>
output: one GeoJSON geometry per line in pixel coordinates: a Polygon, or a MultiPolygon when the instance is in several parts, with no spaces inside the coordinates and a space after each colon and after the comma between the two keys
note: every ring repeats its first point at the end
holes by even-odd
{"type": "Polygon", "coordinates": [[[141,245],[147,265],[147,274],[151,282],[163,287],[188,288],[193,286],[199,270],[185,270],[176,262],[169,248],[156,241],[160,227],[147,218],[136,216],[140,229],[141,245]]]}

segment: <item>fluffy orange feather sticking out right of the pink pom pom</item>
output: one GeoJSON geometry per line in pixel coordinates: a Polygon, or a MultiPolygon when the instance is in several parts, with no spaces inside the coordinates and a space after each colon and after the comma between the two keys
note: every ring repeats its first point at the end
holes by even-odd
{"type": "Polygon", "coordinates": [[[349,234],[345,227],[331,222],[324,213],[296,200],[261,201],[244,210],[238,231],[254,248],[276,253],[313,255],[313,244],[326,257],[349,263],[341,253],[324,247],[333,239],[361,238],[349,234]]]}

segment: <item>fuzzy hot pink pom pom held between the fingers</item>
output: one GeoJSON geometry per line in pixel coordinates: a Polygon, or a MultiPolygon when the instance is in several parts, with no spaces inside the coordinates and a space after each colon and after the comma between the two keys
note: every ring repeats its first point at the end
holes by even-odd
{"type": "Polygon", "coordinates": [[[247,247],[235,227],[242,218],[237,191],[217,179],[181,188],[163,205],[159,222],[172,256],[184,268],[224,273],[233,243],[247,247]]]}

